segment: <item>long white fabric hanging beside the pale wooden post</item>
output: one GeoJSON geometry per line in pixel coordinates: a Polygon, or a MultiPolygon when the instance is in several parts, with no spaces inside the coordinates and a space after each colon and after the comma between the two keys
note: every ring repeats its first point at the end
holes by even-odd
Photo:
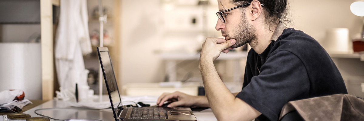
{"type": "MultiPolygon", "coordinates": [[[[75,84],[87,86],[88,70],[83,55],[92,52],[88,33],[86,0],[60,0],[59,26],[56,33],[55,60],[60,92],[57,97],[74,93],[75,84]]],[[[65,101],[70,98],[64,98],[65,101]]]]}

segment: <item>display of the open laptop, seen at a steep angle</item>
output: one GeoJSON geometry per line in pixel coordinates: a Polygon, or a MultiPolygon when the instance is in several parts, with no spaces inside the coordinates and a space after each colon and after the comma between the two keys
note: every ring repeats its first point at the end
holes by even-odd
{"type": "MultiPolygon", "coordinates": [[[[121,99],[119,95],[118,85],[116,84],[114,70],[112,69],[110,55],[108,49],[105,47],[98,47],[98,52],[101,61],[101,66],[103,69],[104,79],[106,80],[105,82],[108,85],[107,89],[110,93],[109,95],[110,101],[113,104],[112,108],[114,108],[114,110],[117,110],[117,108],[121,106],[120,105],[121,99]]],[[[115,116],[118,115],[117,112],[114,113],[115,116]]]]}

